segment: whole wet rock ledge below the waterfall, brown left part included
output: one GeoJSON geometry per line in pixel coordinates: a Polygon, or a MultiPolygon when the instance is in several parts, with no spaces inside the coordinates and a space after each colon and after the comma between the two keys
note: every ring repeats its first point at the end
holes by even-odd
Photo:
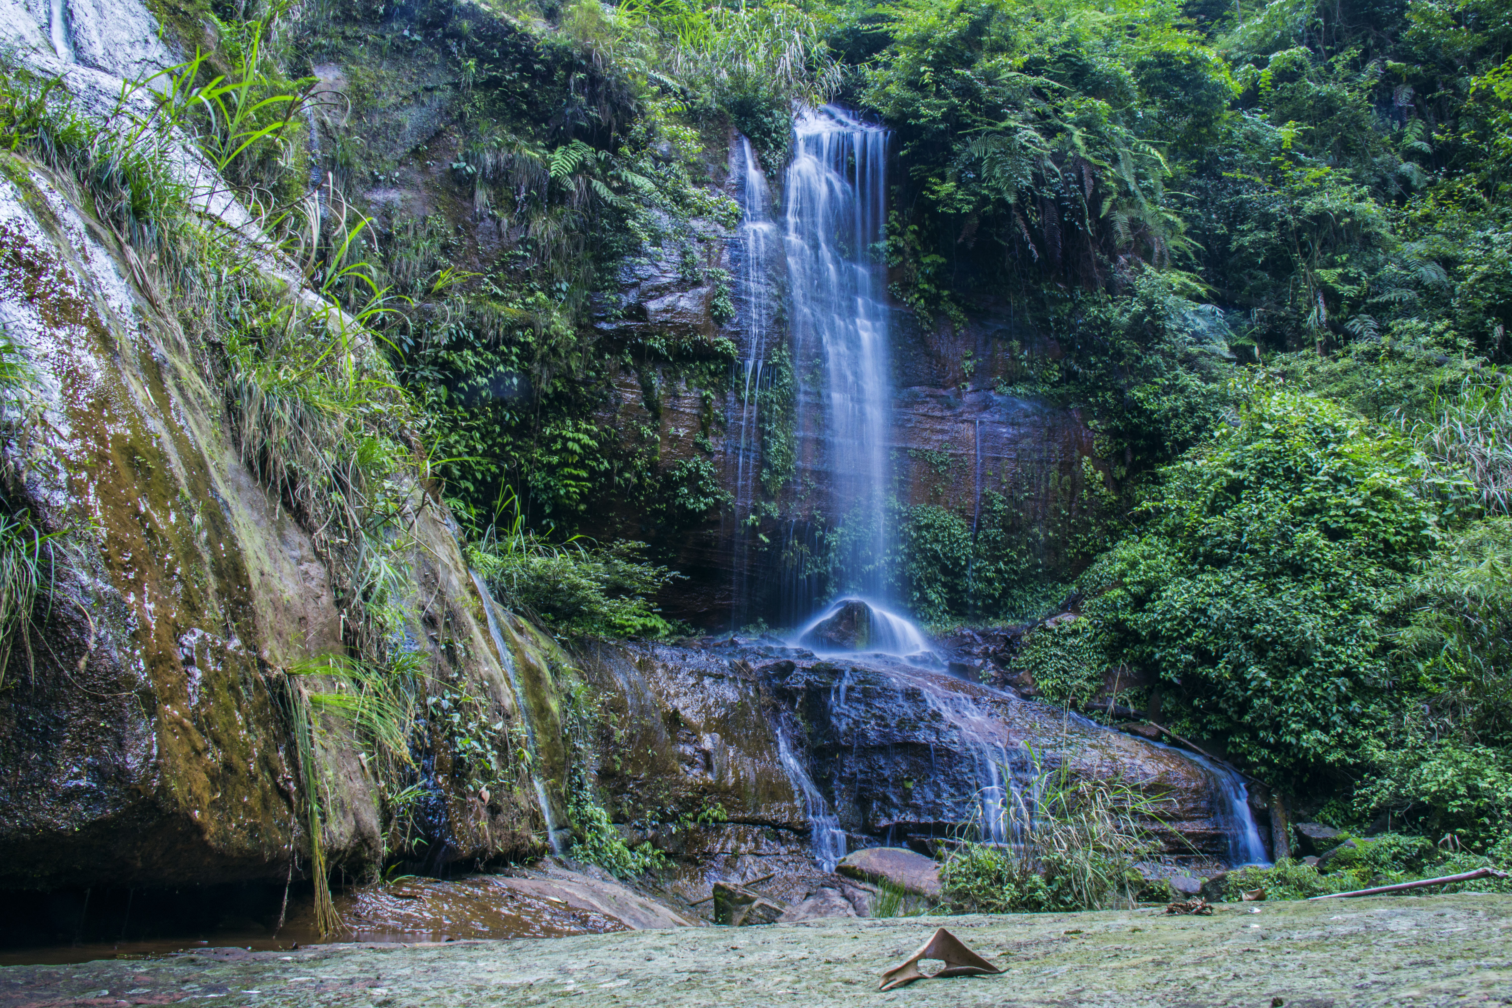
{"type": "Polygon", "coordinates": [[[1198,763],[943,671],[754,641],[605,647],[585,668],[614,725],[600,766],[614,818],[668,851],[671,893],[686,901],[715,881],[774,870],[779,889],[762,892],[789,905],[838,884],[815,867],[812,824],[777,757],[779,733],[853,849],[933,854],[931,839],[980,822],[993,780],[1010,805],[1015,795],[1033,802],[1036,775],[1064,766],[1163,796],[1158,836],[1169,854],[1190,854],[1188,842],[1228,852],[1214,781],[1198,763]],[[712,801],[727,821],[699,824],[712,801]]]}

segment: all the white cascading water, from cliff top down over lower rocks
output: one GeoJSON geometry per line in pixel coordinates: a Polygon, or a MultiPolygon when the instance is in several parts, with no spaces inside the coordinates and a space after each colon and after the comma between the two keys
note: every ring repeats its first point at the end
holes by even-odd
{"type": "MultiPolygon", "coordinates": [[[[804,112],[795,122],[794,157],[788,168],[783,209],[783,245],[789,289],[789,328],[794,370],[800,379],[797,429],[800,465],[829,490],[829,523],[839,532],[839,562],[842,583],[868,597],[866,614],[850,614],[850,630],[857,633],[854,647],[836,645],[833,651],[850,651],[877,671],[885,671],[900,694],[922,697],[939,722],[948,725],[951,745],[968,756],[966,781],[975,778],[971,805],[978,818],[983,839],[1013,843],[1024,839],[1039,804],[1040,780],[1034,753],[1012,741],[1001,724],[995,704],[1015,703],[1009,694],[974,683],[960,688],[959,680],[945,674],[928,641],[906,617],[878,606],[871,598],[886,598],[886,562],[891,553],[888,527],[888,491],[891,485],[889,447],[892,443],[892,382],[888,352],[889,319],[885,275],[875,248],[883,239],[885,221],[885,159],[886,131],[860,122],[841,109],[826,106],[804,112]],[[803,387],[810,375],[823,375],[820,387],[803,387]],[[863,636],[857,632],[865,620],[863,636]],[[857,653],[859,651],[859,653],[857,653]],[[872,657],[863,657],[871,654],[872,657]],[[897,662],[892,659],[904,659],[897,662]]],[[[741,248],[747,252],[742,283],[748,296],[761,301],[765,275],[750,274],[758,249],[765,252],[768,231],[762,213],[767,209],[764,180],[742,144],[745,183],[742,189],[741,248]]],[[[768,295],[770,298],[770,295],[768,295]]],[[[770,316],[748,311],[745,337],[748,342],[744,373],[745,396],[736,425],[735,473],[738,502],[736,520],[748,517],[753,493],[742,481],[754,470],[756,413],[750,405],[751,388],[759,387],[759,367],[767,345],[770,316]],[[754,373],[754,376],[753,376],[754,373]],[[753,384],[754,382],[754,384],[753,384]],[[744,503],[742,503],[744,502],[744,503]]],[[[812,382],[812,379],[809,379],[812,382]]],[[[733,417],[733,411],[732,411],[733,417]]],[[[983,435],[980,422],[972,431],[974,443],[974,508],[972,535],[981,517],[983,496],[983,435]]],[[[783,552],[818,552],[821,543],[815,526],[794,520],[785,533],[783,552]]],[[[833,547],[835,543],[832,541],[833,547]]],[[[739,555],[738,555],[739,556],[739,555]]],[[[741,561],[738,559],[738,564],[741,561]]],[[[816,583],[803,564],[789,565],[792,583],[783,588],[785,617],[813,612],[816,583]],[[797,611],[797,612],[795,612],[797,611]]],[[[745,574],[738,567],[736,577],[745,574]]],[[[968,576],[969,580],[969,576],[968,576]]],[[[736,583],[741,598],[742,583],[736,583]]],[[[859,598],[830,603],[812,617],[794,644],[816,651],[832,651],[821,636],[810,638],[821,624],[839,617],[845,606],[859,598]]],[[[736,620],[742,614],[736,614],[736,620]]],[[[869,731],[866,701],[847,698],[847,676],[832,688],[829,709],[841,734],[850,733],[851,745],[869,731]]],[[[1099,733],[1101,725],[1087,725],[1099,733]]],[[[779,756],[803,796],[813,828],[813,852],[824,867],[833,867],[845,854],[845,834],[824,793],[815,786],[795,753],[786,730],[779,730],[779,756]]],[[[1182,753],[1187,759],[1191,754],[1182,753]]],[[[933,750],[931,750],[933,759],[933,750]]],[[[1243,781],[1231,769],[1202,762],[1214,783],[1214,805],[1220,810],[1229,839],[1229,860],[1234,864],[1264,861],[1264,848],[1244,796],[1243,781]]],[[[960,763],[957,763],[960,766],[960,763]]],[[[957,778],[959,780],[959,778],[957,778]]],[[[959,783],[966,783],[959,781],[959,783]]],[[[833,786],[836,801],[841,780],[833,786]]],[[[924,787],[928,790],[928,786],[924,787]]],[[[960,809],[966,795],[936,795],[943,804],[960,809]]]]}

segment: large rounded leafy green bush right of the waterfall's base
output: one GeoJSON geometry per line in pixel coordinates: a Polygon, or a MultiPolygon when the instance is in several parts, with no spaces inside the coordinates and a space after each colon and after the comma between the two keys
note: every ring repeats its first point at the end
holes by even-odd
{"type": "Polygon", "coordinates": [[[1256,385],[1237,428],[1160,473],[1083,579],[1087,629],[1037,660],[1084,660],[1095,633],[1102,666],[1160,677],[1181,730],[1255,766],[1358,762],[1387,715],[1390,595],[1435,535],[1418,482],[1402,438],[1256,385]]]}

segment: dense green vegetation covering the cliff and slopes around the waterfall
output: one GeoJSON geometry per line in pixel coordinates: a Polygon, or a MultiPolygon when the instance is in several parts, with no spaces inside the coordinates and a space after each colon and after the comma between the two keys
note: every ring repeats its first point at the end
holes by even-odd
{"type": "MultiPolygon", "coordinates": [[[[257,281],[45,82],[8,76],[0,127],[92,180],[192,295],[246,459],[328,529],[369,657],[423,481],[510,604],[674,629],[649,601],[668,555],[643,544],[727,514],[717,402],[747,393],[717,328],[643,325],[618,296],[680,283],[729,320],[729,127],[776,169],[791,103],[839,97],[895,131],[897,301],[927,326],[1012,310],[1031,335],[996,390],[1096,434],[1064,564],[1025,559],[1012,502],[987,499],[981,535],[898,502],[900,594],[993,620],[1075,574],[1081,618],[1025,650],[1051,697],[1128,673],[1128,701],[1335,795],[1340,825],[1391,813],[1477,851],[1512,833],[1506,0],[156,6],[180,42],[215,27],[172,124],[228,110],[218,73],[316,118],[236,100],[203,150],[349,316],[257,281]]],[[[771,405],[762,535],[794,475],[795,376],[773,373],[748,393],[771,405]]],[[[8,611],[41,549],[12,521],[8,611]]]]}

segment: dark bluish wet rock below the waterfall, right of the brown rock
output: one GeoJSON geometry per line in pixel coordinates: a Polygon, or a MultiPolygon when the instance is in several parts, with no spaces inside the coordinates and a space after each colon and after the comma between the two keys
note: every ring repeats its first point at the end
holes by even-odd
{"type": "MultiPolygon", "coordinates": [[[[948,673],[868,656],[758,666],[801,725],[809,772],[851,846],[915,845],[995,818],[1022,822],[1036,778],[1120,781],[1161,798],[1167,852],[1225,855],[1214,781],[1181,753],[948,673]],[[999,790],[993,790],[999,789],[999,790]],[[983,796],[989,802],[983,802],[983,796]]],[[[989,822],[990,825],[990,822],[989,822]]],[[[1004,837],[1010,839],[1010,837],[1004,837]]]]}

